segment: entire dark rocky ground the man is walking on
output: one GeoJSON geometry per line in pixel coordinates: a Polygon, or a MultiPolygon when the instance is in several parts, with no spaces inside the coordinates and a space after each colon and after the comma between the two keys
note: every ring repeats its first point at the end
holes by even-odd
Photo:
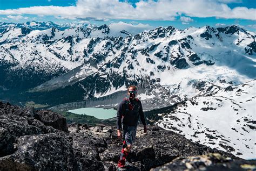
{"type": "MultiPolygon", "coordinates": [[[[113,126],[67,125],[56,112],[0,102],[0,170],[116,170],[121,146],[113,126]]],[[[147,134],[138,128],[126,164],[127,170],[256,169],[255,161],[157,126],[147,134]]]]}

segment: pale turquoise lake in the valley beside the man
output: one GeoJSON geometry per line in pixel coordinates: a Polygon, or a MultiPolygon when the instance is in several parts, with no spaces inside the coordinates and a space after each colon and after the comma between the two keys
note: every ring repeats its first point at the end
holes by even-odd
{"type": "Polygon", "coordinates": [[[89,115],[94,116],[98,119],[109,119],[116,117],[117,111],[114,109],[103,109],[103,108],[79,108],[69,110],[68,112],[76,113],[79,115],[89,115]]]}

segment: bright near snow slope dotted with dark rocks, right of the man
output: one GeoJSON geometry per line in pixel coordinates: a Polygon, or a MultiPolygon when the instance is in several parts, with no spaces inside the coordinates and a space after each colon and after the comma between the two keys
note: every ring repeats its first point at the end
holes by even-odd
{"type": "Polygon", "coordinates": [[[213,86],[202,95],[178,104],[156,124],[183,134],[199,144],[245,159],[255,159],[256,80],[229,86],[213,86]]]}

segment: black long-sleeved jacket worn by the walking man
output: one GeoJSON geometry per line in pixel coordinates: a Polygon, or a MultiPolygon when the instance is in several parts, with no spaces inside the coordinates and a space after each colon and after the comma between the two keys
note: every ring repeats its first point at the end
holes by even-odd
{"type": "Polygon", "coordinates": [[[143,125],[146,125],[145,117],[142,109],[142,102],[138,98],[131,99],[126,97],[118,105],[117,111],[117,129],[121,127],[121,121],[123,118],[123,124],[127,126],[136,126],[138,124],[139,118],[143,125]]]}

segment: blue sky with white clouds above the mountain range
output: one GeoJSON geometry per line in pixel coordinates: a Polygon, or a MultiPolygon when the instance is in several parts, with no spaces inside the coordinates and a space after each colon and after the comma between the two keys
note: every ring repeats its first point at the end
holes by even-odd
{"type": "Polygon", "coordinates": [[[124,22],[140,27],[237,25],[256,31],[256,0],[0,0],[0,22],[124,22]]]}

